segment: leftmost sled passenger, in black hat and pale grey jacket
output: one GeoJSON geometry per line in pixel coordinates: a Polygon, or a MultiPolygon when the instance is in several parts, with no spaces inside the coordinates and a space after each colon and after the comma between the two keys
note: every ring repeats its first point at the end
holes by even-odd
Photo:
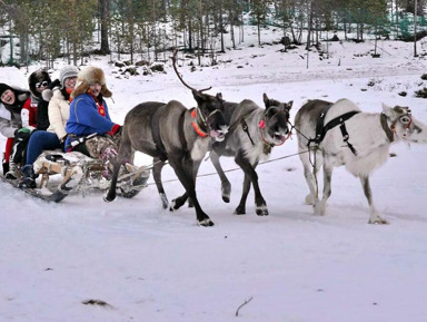
{"type": "MultiPolygon", "coordinates": [[[[30,92],[28,90],[0,82],[0,133],[8,138],[3,159],[3,175],[6,177],[9,177],[8,174],[10,173],[10,156],[14,134],[22,127],[22,106],[29,97],[30,92]]],[[[13,169],[10,177],[12,174],[14,174],[13,169]]]]}

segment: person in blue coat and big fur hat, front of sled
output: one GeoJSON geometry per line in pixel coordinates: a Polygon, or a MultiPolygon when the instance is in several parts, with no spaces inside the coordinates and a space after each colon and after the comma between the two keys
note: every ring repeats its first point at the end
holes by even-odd
{"type": "Polygon", "coordinates": [[[86,67],[71,92],[70,117],[67,123],[66,152],[80,152],[105,164],[102,176],[110,178],[112,158],[117,156],[117,139],[121,126],[110,118],[105,98],[112,96],[106,77],[98,67],[86,67]]]}

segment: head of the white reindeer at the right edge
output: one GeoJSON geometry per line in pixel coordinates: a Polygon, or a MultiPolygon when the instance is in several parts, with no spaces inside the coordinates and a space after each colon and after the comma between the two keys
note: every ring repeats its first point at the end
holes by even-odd
{"type": "Polygon", "coordinates": [[[427,144],[427,126],[415,119],[408,107],[383,104],[383,114],[387,117],[395,140],[427,144]]]}

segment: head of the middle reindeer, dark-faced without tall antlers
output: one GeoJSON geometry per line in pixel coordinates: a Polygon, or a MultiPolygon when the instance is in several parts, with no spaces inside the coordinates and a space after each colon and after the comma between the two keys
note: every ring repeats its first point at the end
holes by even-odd
{"type": "Polygon", "coordinates": [[[260,127],[267,134],[266,140],[272,145],[281,145],[289,137],[288,128],[289,110],[294,101],[281,103],[269,99],[266,94],[262,96],[266,111],[264,114],[260,127]]]}

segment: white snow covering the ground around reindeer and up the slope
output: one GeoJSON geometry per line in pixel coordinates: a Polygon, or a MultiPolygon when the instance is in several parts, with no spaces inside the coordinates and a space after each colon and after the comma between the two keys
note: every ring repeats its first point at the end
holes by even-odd
{"type": "MultiPolygon", "coordinates": [[[[271,39],[279,32],[262,33],[262,41],[271,39]]],[[[383,103],[409,106],[427,123],[426,101],[414,97],[426,86],[426,59],[413,57],[413,43],[379,41],[381,57],[371,58],[374,41],[329,42],[330,58],[310,51],[307,68],[304,47],[259,48],[255,31],[245,41],[218,56],[215,67],[191,72],[189,60],[180,61],[183,79],[198,89],[212,86],[209,92],[229,101],[262,106],[264,92],[294,100],[292,119],[307,99],[348,98],[365,111],[380,111],[383,103]]],[[[195,105],[170,62],[166,74],[125,77],[108,59],[91,57],[88,65],[105,69],[117,123],[146,100],[195,105]]],[[[23,69],[1,70],[8,84],[26,86],[27,78],[23,69]]],[[[221,159],[230,169],[229,204],[216,175],[198,179],[214,227],[197,226],[187,206],[163,211],[152,178],[135,198],[113,203],[95,193],[48,204],[0,183],[0,321],[426,321],[427,147],[396,144],[391,152],[396,157],[371,176],[374,201],[389,225],[367,224],[359,180],[344,168],[334,173],[328,214],[314,216],[304,204],[308,188],[295,136],[257,168],[268,217],[255,214],[252,193],[247,215],[232,215],[242,183],[232,158],[221,159]],[[107,305],[83,304],[89,300],[107,305]]],[[[150,159],[138,155],[136,163],[150,159]]],[[[203,162],[200,174],[212,173],[203,162]]],[[[163,180],[169,199],[183,192],[169,166],[163,180]]]]}

